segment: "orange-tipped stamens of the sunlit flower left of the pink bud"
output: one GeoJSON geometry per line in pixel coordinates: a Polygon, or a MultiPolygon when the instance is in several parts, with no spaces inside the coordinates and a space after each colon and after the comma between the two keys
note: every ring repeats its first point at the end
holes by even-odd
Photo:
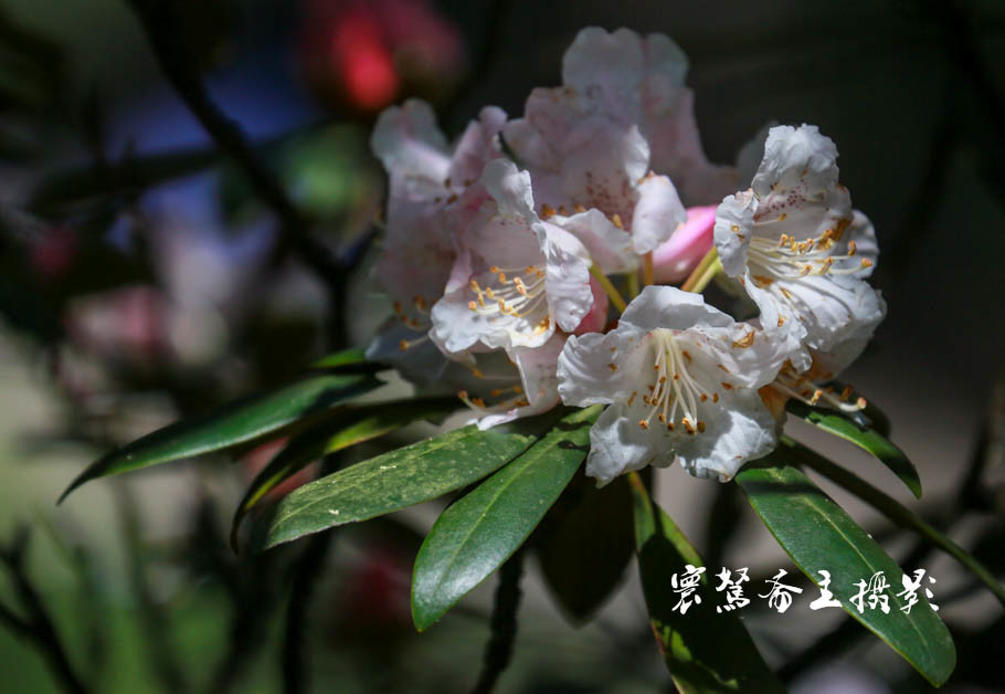
{"type": "Polygon", "coordinates": [[[490,272],[490,275],[483,275],[485,286],[472,278],[470,288],[477,298],[467,303],[470,311],[489,319],[519,318],[527,324],[528,330],[538,334],[551,326],[543,270],[536,265],[522,269],[493,265],[490,272]]]}

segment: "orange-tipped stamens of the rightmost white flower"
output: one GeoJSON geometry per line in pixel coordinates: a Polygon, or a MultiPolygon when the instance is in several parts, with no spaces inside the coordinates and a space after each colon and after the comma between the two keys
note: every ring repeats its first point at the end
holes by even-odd
{"type": "MultiPolygon", "coordinates": [[[[755,222],[755,227],[766,227],[784,221],[785,213],[773,221],[755,222]]],[[[868,259],[853,260],[856,253],[855,242],[848,242],[844,254],[834,253],[834,245],[840,241],[850,221],[842,220],[836,229],[826,229],[815,239],[797,241],[794,236],[782,234],[777,241],[755,234],[748,248],[748,265],[751,276],[759,286],[764,287],[776,280],[798,280],[807,275],[847,275],[869,267],[868,259]]]]}

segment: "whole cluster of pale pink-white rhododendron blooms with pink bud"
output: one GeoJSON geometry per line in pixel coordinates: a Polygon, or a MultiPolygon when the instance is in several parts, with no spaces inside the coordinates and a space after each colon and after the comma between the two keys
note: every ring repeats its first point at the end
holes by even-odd
{"type": "Polygon", "coordinates": [[[863,407],[825,387],[886,309],[834,143],[773,127],[744,148],[763,156],[741,185],[706,158],[686,74],[664,35],[590,28],[562,86],[520,118],[485,108],[453,146],[426,104],[385,111],[375,276],[395,316],[369,357],[458,392],[482,428],[607,403],[586,463],[599,484],[675,461],[726,481],[775,446],[787,399],[863,407]],[[755,314],[707,304],[716,275],[755,314]]]}

